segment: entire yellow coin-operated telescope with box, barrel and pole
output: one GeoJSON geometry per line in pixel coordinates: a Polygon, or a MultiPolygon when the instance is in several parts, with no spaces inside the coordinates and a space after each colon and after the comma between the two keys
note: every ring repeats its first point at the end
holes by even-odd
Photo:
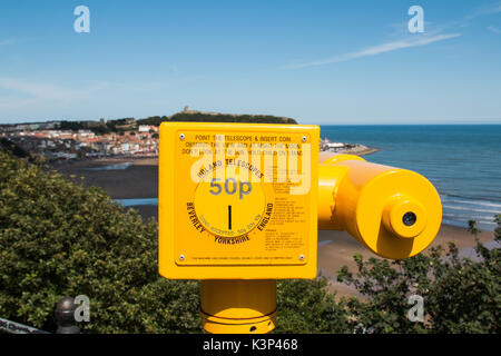
{"type": "Polygon", "coordinates": [[[318,229],[392,259],[436,236],[428,179],[350,155],[318,164],[318,140],[317,126],[160,126],[159,273],[202,280],[207,332],[273,330],[276,279],[316,277],[318,229]]]}

